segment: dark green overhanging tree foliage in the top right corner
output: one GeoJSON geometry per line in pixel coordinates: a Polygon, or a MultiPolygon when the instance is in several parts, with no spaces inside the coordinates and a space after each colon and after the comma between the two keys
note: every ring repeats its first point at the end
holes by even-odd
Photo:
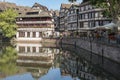
{"type": "Polygon", "coordinates": [[[120,0],[90,0],[90,2],[100,8],[104,8],[104,15],[111,17],[115,24],[120,22],[120,0]]]}

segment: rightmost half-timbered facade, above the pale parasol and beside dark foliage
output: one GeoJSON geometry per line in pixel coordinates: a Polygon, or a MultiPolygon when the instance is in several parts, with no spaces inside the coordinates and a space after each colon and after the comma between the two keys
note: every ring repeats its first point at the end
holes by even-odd
{"type": "Polygon", "coordinates": [[[111,19],[105,17],[102,12],[104,9],[96,8],[90,3],[83,3],[84,5],[79,6],[79,22],[83,23],[83,28],[86,27],[96,27],[108,24],[111,19]]]}

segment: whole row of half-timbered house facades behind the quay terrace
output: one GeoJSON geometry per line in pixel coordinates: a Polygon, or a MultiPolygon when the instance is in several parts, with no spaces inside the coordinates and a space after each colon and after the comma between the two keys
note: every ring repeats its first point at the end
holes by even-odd
{"type": "Polygon", "coordinates": [[[68,9],[60,8],[60,29],[63,31],[76,31],[81,28],[92,28],[108,24],[111,19],[105,17],[102,14],[103,11],[104,9],[96,8],[89,2],[81,3],[77,6],[73,4],[68,9]]]}

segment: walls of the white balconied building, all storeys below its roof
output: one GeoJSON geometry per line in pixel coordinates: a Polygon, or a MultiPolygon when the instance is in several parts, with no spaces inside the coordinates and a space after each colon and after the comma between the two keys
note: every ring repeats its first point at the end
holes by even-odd
{"type": "MultiPolygon", "coordinates": [[[[27,16],[27,15],[26,15],[27,16]]],[[[41,41],[50,37],[54,32],[53,19],[51,17],[18,17],[17,41],[41,41]]]]}

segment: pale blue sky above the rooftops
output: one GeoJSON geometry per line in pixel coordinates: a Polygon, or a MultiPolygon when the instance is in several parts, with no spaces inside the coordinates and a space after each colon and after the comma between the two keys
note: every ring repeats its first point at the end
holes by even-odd
{"type": "MultiPolygon", "coordinates": [[[[0,0],[4,1],[4,0],[0,0]]],[[[16,3],[17,5],[21,6],[29,6],[32,7],[32,5],[37,2],[41,5],[44,5],[48,7],[48,9],[54,9],[59,10],[61,3],[69,3],[68,0],[5,0],[6,2],[12,2],[16,3]]],[[[82,0],[77,0],[78,3],[80,3],[82,0]]]]}

